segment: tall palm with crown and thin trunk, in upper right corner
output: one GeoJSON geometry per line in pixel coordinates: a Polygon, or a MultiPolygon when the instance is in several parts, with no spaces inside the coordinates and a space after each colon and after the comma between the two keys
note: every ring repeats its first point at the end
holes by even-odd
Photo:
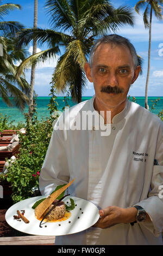
{"type": "Polygon", "coordinates": [[[148,46],[148,70],[147,70],[147,79],[146,79],[146,94],[145,94],[145,108],[149,110],[148,106],[148,82],[149,82],[149,73],[150,73],[150,62],[151,62],[151,30],[152,30],[152,13],[154,11],[155,16],[158,20],[162,19],[162,7],[160,4],[163,3],[163,0],[142,0],[136,3],[135,11],[139,14],[140,8],[145,8],[143,13],[143,22],[145,28],[149,28],[149,46],[148,46]],[[148,18],[149,15],[149,18],[148,18]]]}

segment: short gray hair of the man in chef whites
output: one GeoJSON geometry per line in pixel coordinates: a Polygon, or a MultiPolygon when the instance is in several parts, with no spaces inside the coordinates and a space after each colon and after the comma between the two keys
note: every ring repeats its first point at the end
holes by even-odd
{"type": "Polygon", "coordinates": [[[111,34],[111,35],[104,35],[101,39],[98,39],[96,41],[96,43],[92,46],[92,49],[90,52],[90,60],[89,60],[90,67],[92,67],[93,56],[95,54],[97,47],[100,44],[114,44],[114,45],[123,45],[123,46],[128,47],[128,49],[130,50],[130,53],[133,57],[134,68],[139,66],[139,62],[137,59],[137,53],[136,53],[134,45],[131,44],[127,38],[121,37],[121,35],[111,34]]]}

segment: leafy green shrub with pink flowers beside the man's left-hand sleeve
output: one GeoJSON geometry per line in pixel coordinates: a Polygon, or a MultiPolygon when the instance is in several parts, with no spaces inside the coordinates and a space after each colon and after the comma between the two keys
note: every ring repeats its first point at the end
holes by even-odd
{"type": "MultiPolygon", "coordinates": [[[[54,95],[53,95],[54,96],[54,95]]],[[[35,104],[36,100],[34,100],[35,104]]],[[[11,183],[13,203],[33,197],[33,189],[39,187],[39,175],[47,148],[53,132],[52,123],[55,118],[53,111],[55,107],[55,97],[48,105],[51,110],[51,117],[38,121],[36,106],[33,108],[32,120],[26,118],[26,134],[19,133],[20,152],[16,156],[15,162],[8,166],[7,181],[11,183]]]]}

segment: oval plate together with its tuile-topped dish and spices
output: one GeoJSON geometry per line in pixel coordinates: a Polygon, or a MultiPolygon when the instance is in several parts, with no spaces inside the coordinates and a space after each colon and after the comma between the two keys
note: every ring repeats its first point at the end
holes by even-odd
{"type": "Polygon", "coordinates": [[[74,234],[91,227],[98,221],[98,208],[90,201],[64,195],[72,182],[58,186],[47,198],[28,198],[12,205],[5,214],[7,223],[23,233],[43,236],[74,234]]]}

